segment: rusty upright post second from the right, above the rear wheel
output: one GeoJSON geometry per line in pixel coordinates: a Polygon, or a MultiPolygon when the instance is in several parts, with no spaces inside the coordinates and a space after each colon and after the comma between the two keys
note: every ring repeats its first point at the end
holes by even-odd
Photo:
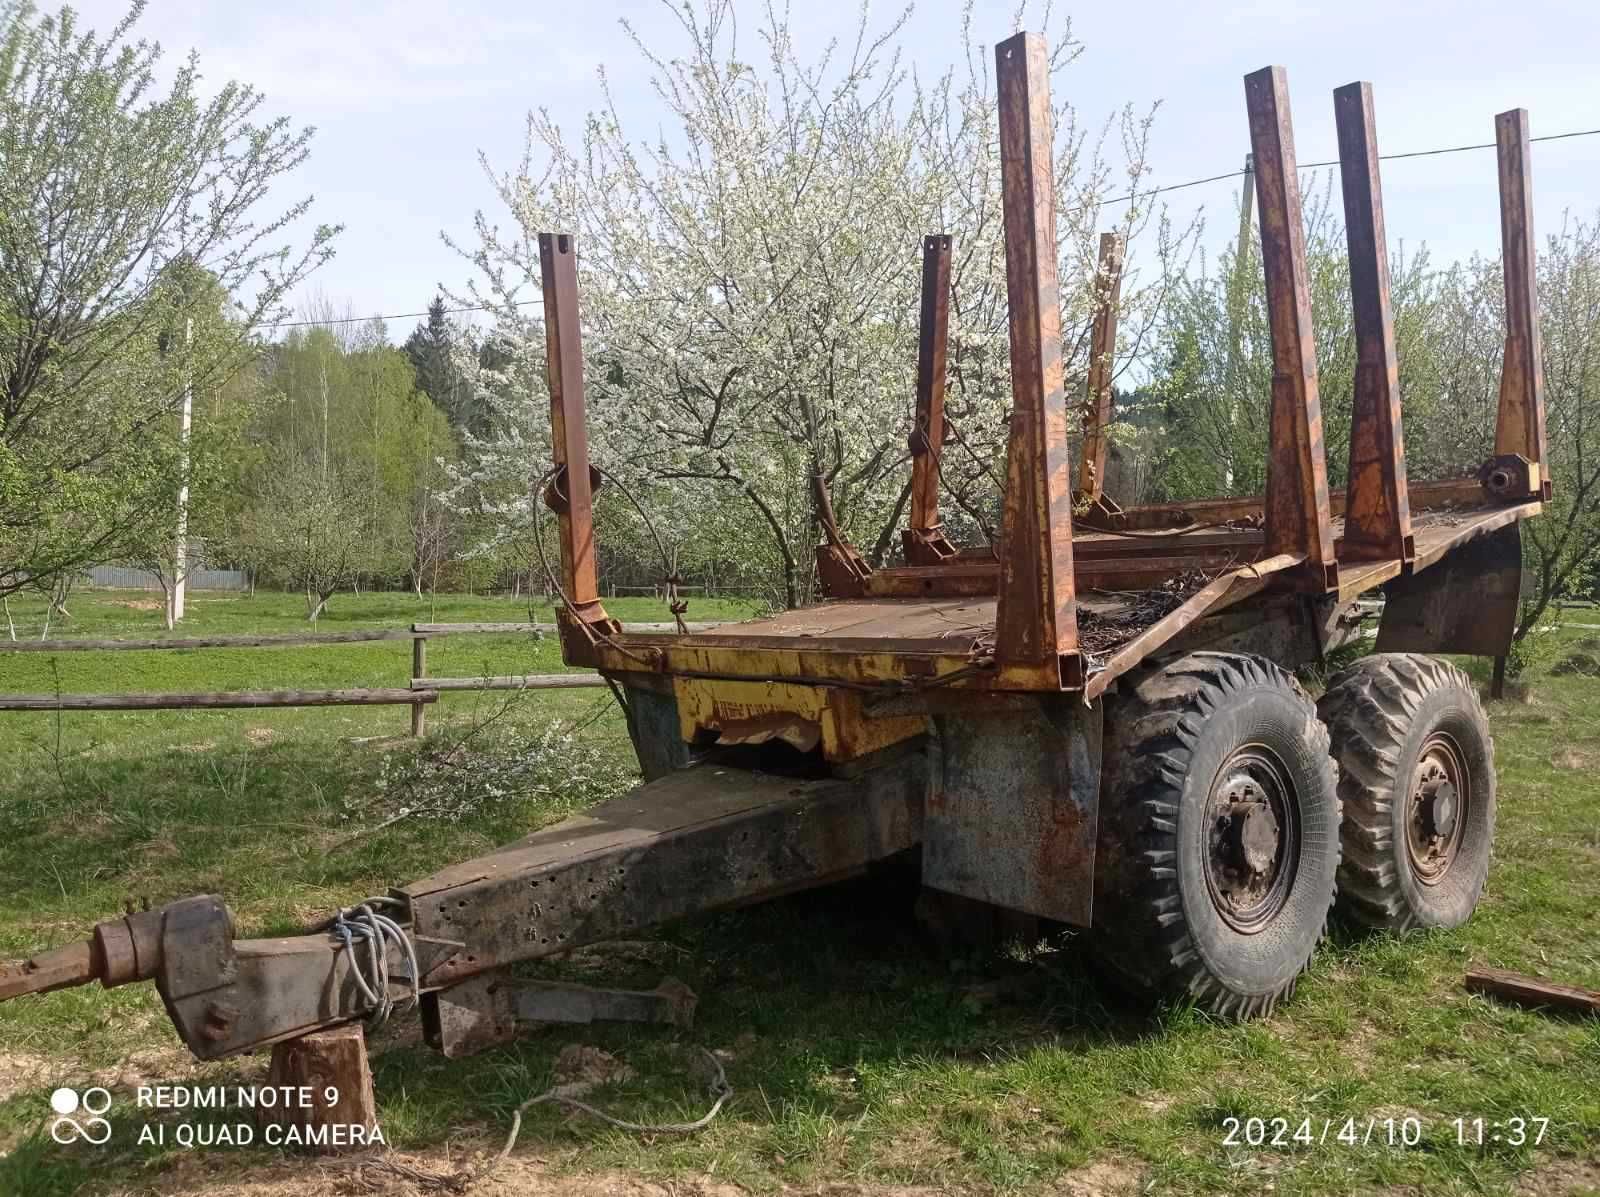
{"type": "Polygon", "coordinates": [[[1333,110],[1339,130],[1339,179],[1355,317],[1350,480],[1339,557],[1410,560],[1416,546],[1405,477],[1400,363],[1389,301],[1389,248],[1371,83],[1347,83],[1334,90],[1333,110]]]}

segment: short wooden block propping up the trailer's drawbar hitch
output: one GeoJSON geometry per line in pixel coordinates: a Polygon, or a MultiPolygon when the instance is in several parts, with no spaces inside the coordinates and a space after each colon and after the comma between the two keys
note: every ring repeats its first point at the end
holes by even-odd
{"type": "Polygon", "coordinates": [[[270,1146],[341,1152],[382,1143],[366,1035],[355,1023],[275,1043],[267,1087],[274,1104],[258,1109],[270,1146]]]}

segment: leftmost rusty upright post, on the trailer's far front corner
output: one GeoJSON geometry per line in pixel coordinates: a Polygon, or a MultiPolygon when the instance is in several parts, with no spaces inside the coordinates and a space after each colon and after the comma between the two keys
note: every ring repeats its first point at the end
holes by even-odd
{"type": "Polygon", "coordinates": [[[562,541],[562,587],[570,608],[557,618],[565,632],[579,624],[579,637],[563,637],[582,661],[590,629],[610,634],[619,624],[600,602],[595,570],[594,475],[589,466],[589,429],[584,416],[584,349],[578,325],[578,243],[571,234],[539,234],[539,278],[544,288],[546,373],[550,381],[550,451],[555,477],[546,504],[557,514],[562,541]]]}

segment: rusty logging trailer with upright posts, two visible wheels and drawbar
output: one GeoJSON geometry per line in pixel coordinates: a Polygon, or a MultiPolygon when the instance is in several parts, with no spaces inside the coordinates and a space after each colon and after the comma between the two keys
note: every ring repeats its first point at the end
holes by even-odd
{"type": "Polygon", "coordinates": [[[1334,904],[1379,928],[1464,922],[1490,863],[1493,747],[1466,675],[1427,655],[1504,658],[1518,525],[1550,494],[1526,112],[1496,117],[1507,330],[1482,467],[1406,483],[1371,88],[1352,83],[1334,109],[1358,368],[1349,486],[1330,490],[1288,93],[1269,67],[1245,78],[1274,360],[1266,493],[1122,509],[1102,478],[1123,246],[1101,242],[1074,461],[1045,42],[1018,34],[995,59],[1013,379],[995,546],[957,547],[939,520],[939,234],[922,246],[904,565],[870,566],[819,494],[827,602],[626,632],[597,587],[576,245],[542,235],[562,650],[614,683],[643,784],[370,899],[389,930],[346,912],[242,939],[219,898],[186,898],[0,971],[0,999],[154,979],[208,1059],[416,999],[454,1056],[563,1003],[653,1016],[677,1000],[563,995],[510,965],[917,848],[928,890],[1088,928],[1122,983],[1222,1016],[1270,1013],[1334,904]],[[1314,703],[1290,671],[1349,639],[1379,587],[1376,653],[1314,703]]]}

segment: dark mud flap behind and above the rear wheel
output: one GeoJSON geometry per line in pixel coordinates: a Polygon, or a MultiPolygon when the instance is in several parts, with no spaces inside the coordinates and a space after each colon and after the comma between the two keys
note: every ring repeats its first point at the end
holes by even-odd
{"type": "Polygon", "coordinates": [[[1453,549],[1437,565],[1384,587],[1379,653],[1504,656],[1522,595],[1522,525],[1453,549]]]}

